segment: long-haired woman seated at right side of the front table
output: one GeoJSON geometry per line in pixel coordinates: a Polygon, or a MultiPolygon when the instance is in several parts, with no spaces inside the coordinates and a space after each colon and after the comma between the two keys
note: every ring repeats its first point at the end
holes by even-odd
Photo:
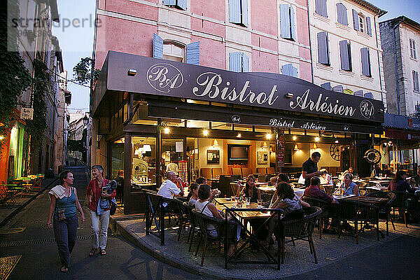
{"type": "MultiPolygon", "coordinates": [[[[302,218],[303,211],[302,207],[307,208],[310,205],[307,202],[303,202],[298,199],[295,193],[293,192],[292,187],[288,183],[278,183],[276,186],[277,199],[271,205],[271,209],[283,209],[283,218],[302,218]]],[[[277,218],[272,217],[269,221],[267,237],[264,245],[273,244],[272,234],[276,228],[277,218]]]]}

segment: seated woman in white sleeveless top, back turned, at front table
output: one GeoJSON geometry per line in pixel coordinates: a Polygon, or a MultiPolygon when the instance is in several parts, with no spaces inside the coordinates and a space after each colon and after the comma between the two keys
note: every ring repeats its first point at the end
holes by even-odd
{"type": "MultiPolygon", "coordinates": [[[[197,202],[195,202],[195,210],[199,211],[201,214],[204,214],[209,217],[218,218],[220,220],[224,220],[225,218],[221,215],[221,212],[218,211],[216,206],[209,201],[210,198],[210,186],[207,184],[200,185],[200,188],[198,189],[198,199],[197,202]]],[[[207,225],[207,232],[209,232],[209,235],[212,237],[217,237],[218,232],[214,225],[207,225]]],[[[221,232],[222,233],[222,232],[221,232]]],[[[239,239],[239,236],[241,234],[241,225],[237,225],[237,239],[239,239]]],[[[230,244],[228,255],[233,255],[233,252],[235,250],[234,244],[230,244]]]]}

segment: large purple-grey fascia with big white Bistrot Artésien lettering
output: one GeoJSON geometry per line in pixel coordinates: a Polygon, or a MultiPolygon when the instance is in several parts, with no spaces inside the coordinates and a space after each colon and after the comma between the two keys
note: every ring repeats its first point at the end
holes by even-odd
{"type": "Polygon", "coordinates": [[[383,104],[275,73],[236,73],[109,52],[107,89],[314,113],[382,123],[383,104]],[[136,69],[128,76],[128,69],[136,69]]]}

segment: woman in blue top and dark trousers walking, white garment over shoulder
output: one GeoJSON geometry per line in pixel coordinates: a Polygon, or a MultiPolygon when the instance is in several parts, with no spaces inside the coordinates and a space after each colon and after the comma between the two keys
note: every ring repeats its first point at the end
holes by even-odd
{"type": "Polygon", "coordinates": [[[61,185],[55,186],[48,193],[50,211],[48,211],[47,227],[51,228],[53,219],[55,241],[57,241],[59,258],[62,263],[61,272],[68,272],[70,253],[76,241],[78,221],[76,209],[80,212],[80,222],[85,221],[85,214],[77,198],[76,188],[72,188],[73,174],[69,170],[59,174],[61,185]]]}

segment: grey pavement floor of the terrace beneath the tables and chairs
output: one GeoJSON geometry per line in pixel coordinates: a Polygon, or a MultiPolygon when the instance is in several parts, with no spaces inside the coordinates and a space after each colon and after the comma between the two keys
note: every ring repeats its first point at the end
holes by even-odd
{"type": "MultiPolygon", "coordinates": [[[[295,247],[291,243],[286,244],[287,253],[284,264],[281,265],[280,270],[276,270],[276,265],[251,264],[229,264],[228,269],[225,269],[223,248],[219,252],[216,244],[207,246],[204,266],[200,267],[203,244],[200,245],[197,257],[194,255],[195,248],[197,248],[197,239],[193,243],[192,252],[188,252],[187,231],[182,232],[180,241],[177,241],[176,232],[178,228],[165,230],[165,246],[160,246],[158,237],[146,236],[142,215],[123,215],[118,209],[116,215],[111,216],[110,221],[113,232],[123,235],[125,239],[139,246],[154,258],[187,272],[214,279],[279,279],[315,271],[368,248],[372,249],[372,258],[374,258],[374,247],[381,246],[403,235],[414,236],[419,238],[420,241],[420,225],[418,223],[409,224],[408,228],[405,228],[404,223],[398,221],[394,221],[394,224],[395,230],[390,223],[389,236],[386,236],[386,224],[380,221],[379,229],[384,232],[385,238],[379,238],[379,241],[377,241],[376,231],[366,230],[360,233],[359,244],[356,244],[355,237],[345,232],[340,238],[337,235],[323,234],[322,239],[319,239],[318,228],[315,228],[313,237],[318,264],[315,264],[314,256],[309,253],[308,243],[306,241],[295,241],[295,247]]],[[[272,252],[274,253],[274,248],[272,252]]],[[[406,258],[409,259],[414,256],[416,256],[415,252],[407,252],[406,258]]],[[[252,258],[252,255],[248,255],[248,257],[252,258]]],[[[360,262],[369,262],[369,260],[360,260],[360,262]]]]}

